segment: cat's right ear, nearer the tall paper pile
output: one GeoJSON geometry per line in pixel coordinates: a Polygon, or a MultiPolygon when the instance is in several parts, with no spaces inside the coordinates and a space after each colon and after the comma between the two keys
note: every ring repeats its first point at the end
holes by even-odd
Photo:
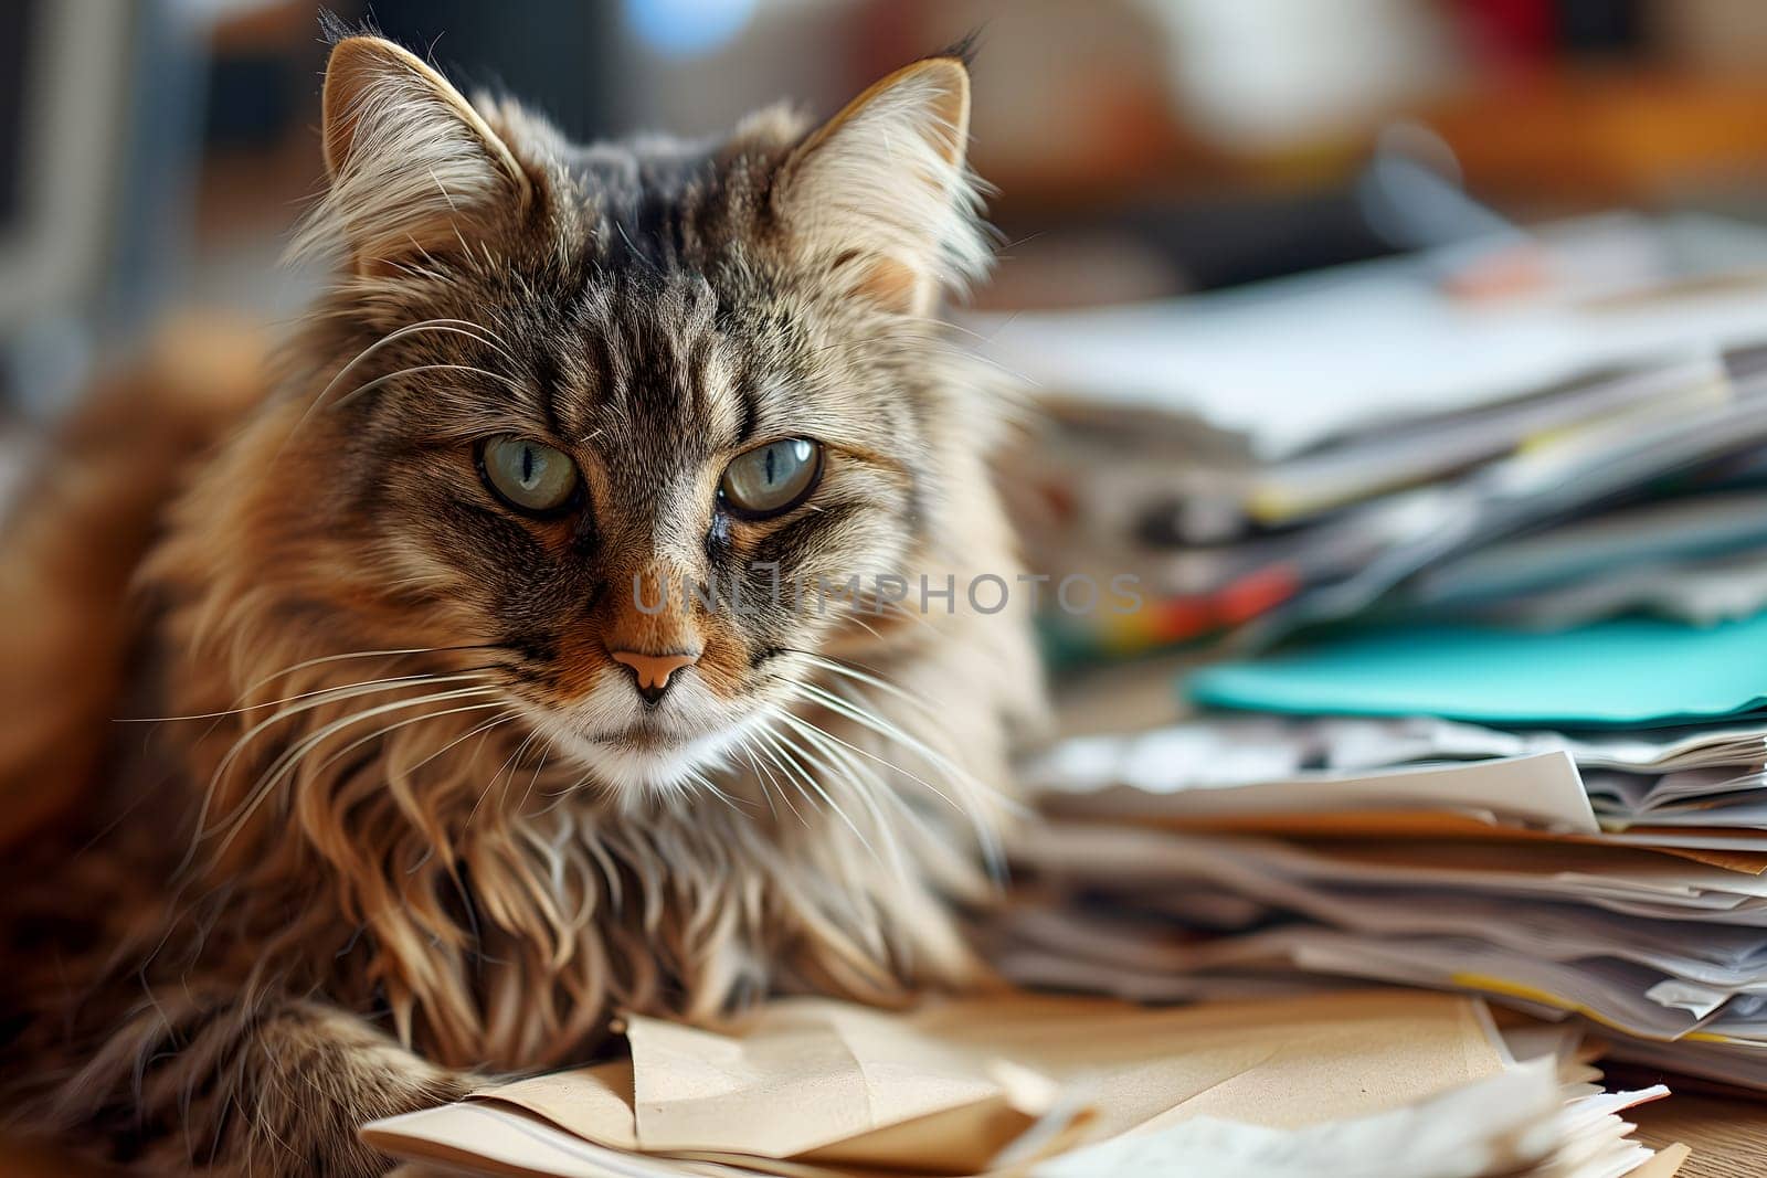
{"type": "Polygon", "coordinates": [[[891,309],[922,314],[940,286],[988,268],[981,193],[965,164],[970,72],[958,57],[898,69],[786,159],[786,233],[891,309]]]}

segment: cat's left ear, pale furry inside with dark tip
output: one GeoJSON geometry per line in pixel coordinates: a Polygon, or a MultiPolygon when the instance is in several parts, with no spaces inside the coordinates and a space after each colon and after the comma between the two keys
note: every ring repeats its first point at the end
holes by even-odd
{"type": "Polygon", "coordinates": [[[422,60],[380,37],[339,41],[325,65],[320,219],[357,268],[482,238],[532,200],[532,182],[479,111],[422,60]]]}

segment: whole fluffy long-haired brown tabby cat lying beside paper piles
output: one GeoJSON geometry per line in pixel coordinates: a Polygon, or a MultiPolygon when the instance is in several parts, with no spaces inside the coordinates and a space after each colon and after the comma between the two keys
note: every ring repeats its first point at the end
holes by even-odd
{"type": "Polygon", "coordinates": [[[360,1121],[620,1008],[982,980],[1037,671],[965,592],[1014,558],[931,318],[988,256],[961,55],[717,143],[578,147],[375,37],[323,106],[281,378],[95,399],[7,535],[0,797],[78,798],[0,871],[19,1121],[369,1174],[360,1121]]]}

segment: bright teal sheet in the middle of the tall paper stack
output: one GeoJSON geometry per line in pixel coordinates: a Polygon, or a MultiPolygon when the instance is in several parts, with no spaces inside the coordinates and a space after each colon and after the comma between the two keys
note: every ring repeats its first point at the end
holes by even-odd
{"type": "Polygon", "coordinates": [[[1226,662],[1196,703],[1301,715],[1438,715],[1509,726],[1666,726],[1767,710],[1767,615],[1714,627],[1615,618],[1551,634],[1364,631],[1226,662]]]}

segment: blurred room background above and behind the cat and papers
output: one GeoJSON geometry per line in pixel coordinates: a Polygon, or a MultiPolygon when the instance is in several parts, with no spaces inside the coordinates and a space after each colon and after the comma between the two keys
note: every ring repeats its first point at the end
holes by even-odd
{"type": "MultiPolygon", "coordinates": [[[[55,404],[170,307],[302,304],[274,263],[320,178],[318,7],[0,4],[7,404],[55,404]]],[[[574,136],[710,132],[777,97],[832,111],[981,28],[995,307],[1232,286],[1617,207],[1767,215],[1753,0],[329,7],[574,136]],[[1422,173],[1382,191],[1384,152],[1422,173]]]]}

